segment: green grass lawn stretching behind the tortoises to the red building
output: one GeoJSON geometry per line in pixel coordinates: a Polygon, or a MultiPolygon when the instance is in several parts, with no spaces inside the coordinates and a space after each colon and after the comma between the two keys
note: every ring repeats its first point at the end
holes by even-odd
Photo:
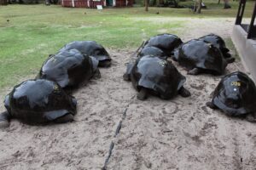
{"type": "MultiPolygon", "coordinates": [[[[55,54],[65,43],[73,40],[95,40],[107,48],[136,48],[143,39],[167,28],[178,33],[183,21],[154,23],[137,18],[160,17],[235,17],[238,2],[232,8],[223,4],[206,3],[203,14],[192,14],[188,8],[62,8],[51,5],[0,6],[0,88],[3,90],[20,82],[21,77],[37,75],[44,59],[55,54]],[[156,12],[160,14],[155,14],[156,12]],[[9,20],[9,22],[7,21],[9,20]]],[[[245,16],[250,16],[253,3],[248,2],[245,16]]],[[[1,91],[0,91],[1,92],[1,91]]],[[[4,92],[6,94],[7,92],[4,92]]]]}

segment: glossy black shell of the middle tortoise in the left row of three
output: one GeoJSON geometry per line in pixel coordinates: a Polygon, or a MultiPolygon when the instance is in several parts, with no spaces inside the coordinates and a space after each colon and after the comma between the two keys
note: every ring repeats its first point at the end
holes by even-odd
{"type": "Polygon", "coordinates": [[[97,62],[76,49],[61,51],[44,61],[39,77],[58,82],[61,88],[76,87],[94,75],[97,62]]]}

